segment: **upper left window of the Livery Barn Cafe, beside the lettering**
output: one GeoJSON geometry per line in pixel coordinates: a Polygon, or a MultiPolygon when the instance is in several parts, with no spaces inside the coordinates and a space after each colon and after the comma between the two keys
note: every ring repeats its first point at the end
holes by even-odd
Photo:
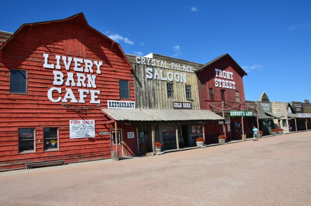
{"type": "Polygon", "coordinates": [[[11,69],[10,93],[27,94],[27,71],[11,69]]]}

